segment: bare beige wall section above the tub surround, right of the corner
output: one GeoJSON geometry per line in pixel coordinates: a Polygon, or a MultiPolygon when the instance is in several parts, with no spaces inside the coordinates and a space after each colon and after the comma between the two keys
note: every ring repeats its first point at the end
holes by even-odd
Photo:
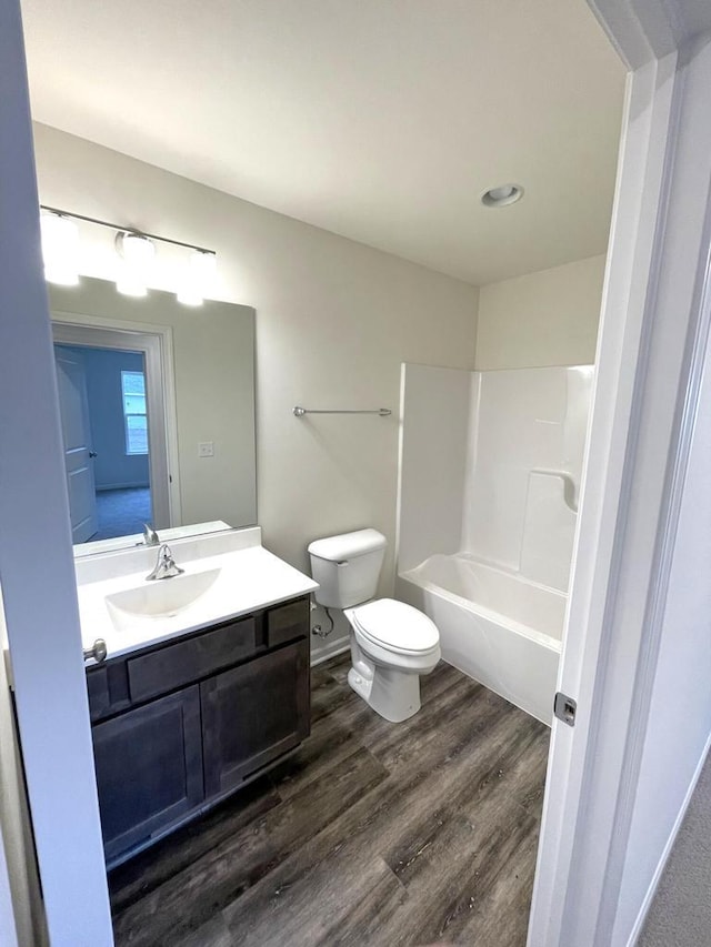
{"type": "Polygon", "coordinates": [[[604,262],[590,256],[482,286],[477,367],[592,364],[604,262]]]}

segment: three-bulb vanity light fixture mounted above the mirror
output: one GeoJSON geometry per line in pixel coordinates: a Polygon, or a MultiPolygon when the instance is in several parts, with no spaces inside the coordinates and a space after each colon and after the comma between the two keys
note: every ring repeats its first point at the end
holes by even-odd
{"type": "Polygon", "coordinates": [[[209,294],[216,271],[214,250],[44,204],[40,209],[44,276],[48,281],[62,285],[76,285],[79,282],[79,230],[76,222],[84,221],[116,231],[116,249],[121,258],[121,269],[117,279],[119,292],[144,296],[148,292],[157,243],[169,243],[190,251],[188,265],[183,268],[184,276],[177,293],[179,301],[187,305],[201,305],[206,295],[209,294]]]}

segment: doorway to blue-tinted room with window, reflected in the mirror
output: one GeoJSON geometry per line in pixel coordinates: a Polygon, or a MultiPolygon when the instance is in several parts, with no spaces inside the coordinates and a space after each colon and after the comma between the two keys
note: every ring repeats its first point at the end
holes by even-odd
{"type": "Polygon", "coordinates": [[[74,544],[176,525],[163,339],[61,321],[52,333],[74,544]]]}

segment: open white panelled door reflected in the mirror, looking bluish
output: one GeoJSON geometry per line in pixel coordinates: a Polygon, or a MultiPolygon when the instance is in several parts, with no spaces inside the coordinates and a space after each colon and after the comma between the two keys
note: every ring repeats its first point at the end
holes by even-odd
{"type": "Polygon", "coordinates": [[[86,543],[98,528],[87,379],[81,357],[61,345],[54,346],[54,363],[72,542],[86,543]]]}

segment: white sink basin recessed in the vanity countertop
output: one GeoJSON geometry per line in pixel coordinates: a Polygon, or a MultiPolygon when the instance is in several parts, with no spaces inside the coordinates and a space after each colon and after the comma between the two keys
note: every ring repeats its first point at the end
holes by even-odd
{"type": "Polygon", "coordinates": [[[220,568],[144,581],[133,588],[107,595],[104,602],[117,631],[136,625],[137,619],[170,618],[189,608],[217,582],[220,568]]]}

